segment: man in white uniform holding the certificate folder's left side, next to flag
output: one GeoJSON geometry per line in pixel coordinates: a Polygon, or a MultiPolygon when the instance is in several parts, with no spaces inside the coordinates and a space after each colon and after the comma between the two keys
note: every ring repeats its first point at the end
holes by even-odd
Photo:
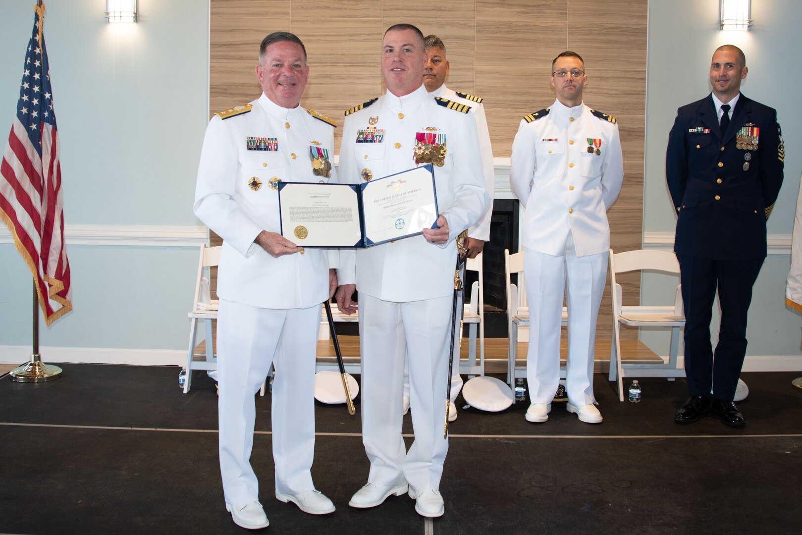
{"type": "Polygon", "coordinates": [[[261,42],[257,78],[264,91],[213,116],[206,129],[195,213],[223,238],[218,270],[217,377],[220,468],[226,509],[243,528],[268,525],[249,459],[253,396],[270,363],[276,497],[302,511],[334,505],[314,488],[314,371],[321,304],[337,281],[327,253],[280,234],[280,181],[334,181],[334,121],[299,106],[309,67],[288,32],[261,42]]]}

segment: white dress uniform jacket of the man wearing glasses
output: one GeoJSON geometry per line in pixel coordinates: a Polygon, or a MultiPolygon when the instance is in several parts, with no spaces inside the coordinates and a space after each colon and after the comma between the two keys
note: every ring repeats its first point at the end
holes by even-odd
{"type": "Polygon", "coordinates": [[[559,99],[545,112],[521,120],[512,142],[510,183],[526,209],[524,248],[559,256],[573,233],[577,257],[606,253],[607,209],[624,178],[618,126],[559,99]]]}

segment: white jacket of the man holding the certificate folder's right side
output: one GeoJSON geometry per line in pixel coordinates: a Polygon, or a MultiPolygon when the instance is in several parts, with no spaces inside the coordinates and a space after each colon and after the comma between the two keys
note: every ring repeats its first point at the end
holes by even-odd
{"type": "Polygon", "coordinates": [[[346,116],[339,180],[358,184],[363,175],[381,178],[416,167],[413,147],[418,132],[445,136],[448,153],[443,167],[434,169],[437,206],[448,220],[448,243],[432,245],[420,235],[359,249],[355,270],[353,251],[340,251],[339,283],[356,283],[360,294],[384,301],[420,301],[451,295],[455,239],[476,224],[490,201],[473,114],[440,106],[423,85],[403,97],[387,91],[375,103],[346,116]],[[375,124],[371,124],[371,117],[378,117],[375,124]],[[357,143],[358,130],[369,127],[383,131],[381,142],[357,143]]]}

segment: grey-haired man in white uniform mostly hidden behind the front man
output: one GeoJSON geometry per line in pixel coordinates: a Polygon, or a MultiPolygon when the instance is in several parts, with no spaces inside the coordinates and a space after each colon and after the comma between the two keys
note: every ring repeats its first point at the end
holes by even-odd
{"type": "MultiPolygon", "coordinates": [[[[446,77],[450,66],[448,59],[446,59],[446,45],[443,40],[434,34],[427,35],[423,38],[423,46],[426,47],[427,63],[426,70],[423,71],[423,85],[426,86],[426,91],[429,95],[440,97],[443,99],[451,100],[465,104],[471,108],[471,113],[476,119],[476,133],[479,136],[479,148],[482,156],[482,174],[484,175],[484,188],[488,191],[490,202],[487,209],[484,210],[484,215],[476,221],[468,229],[468,237],[463,241],[464,249],[467,249],[466,255],[468,258],[476,258],[476,255],[484,249],[484,242],[490,239],[490,219],[493,214],[493,189],[495,182],[495,175],[493,171],[493,151],[490,145],[490,132],[488,132],[488,120],[484,116],[484,105],[482,105],[482,98],[475,95],[468,95],[454,91],[446,87],[446,77]]],[[[459,324],[461,311],[457,311],[457,323],[459,324]]],[[[459,347],[462,336],[459,327],[456,333],[458,337],[456,340],[456,347],[459,347]]],[[[403,414],[407,414],[409,409],[409,380],[408,371],[405,371],[404,377],[404,391],[403,391],[403,414]]],[[[462,377],[460,377],[460,352],[455,349],[454,351],[454,365],[452,367],[452,388],[451,388],[451,404],[448,406],[448,421],[453,422],[456,419],[456,396],[460,394],[462,388],[462,377]]]]}

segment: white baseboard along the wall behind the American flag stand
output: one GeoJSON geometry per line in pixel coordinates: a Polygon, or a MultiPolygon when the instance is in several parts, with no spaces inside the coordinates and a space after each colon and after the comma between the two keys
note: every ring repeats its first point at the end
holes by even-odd
{"type": "MultiPolygon", "coordinates": [[[[45,364],[94,363],[136,366],[184,366],[187,352],[168,349],[115,349],[107,347],[39,346],[45,364]]],[[[30,346],[0,346],[0,364],[22,364],[30,360],[30,346]]]]}

